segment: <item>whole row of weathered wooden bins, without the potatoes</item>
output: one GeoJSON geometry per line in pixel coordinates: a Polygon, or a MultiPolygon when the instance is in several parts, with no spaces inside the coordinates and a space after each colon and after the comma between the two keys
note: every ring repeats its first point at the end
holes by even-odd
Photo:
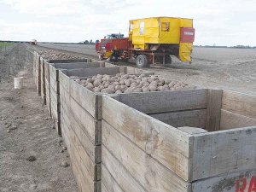
{"type": "Polygon", "coordinates": [[[38,93],[67,143],[80,191],[255,189],[256,96],[208,89],[103,95],[73,76],[148,72],[34,57],[38,93]]]}

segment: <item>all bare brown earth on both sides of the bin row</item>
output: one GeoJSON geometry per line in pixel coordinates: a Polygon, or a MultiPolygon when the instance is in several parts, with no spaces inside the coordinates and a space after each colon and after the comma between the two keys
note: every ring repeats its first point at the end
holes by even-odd
{"type": "MultiPolygon", "coordinates": [[[[97,58],[95,45],[41,45],[97,58]]],[[[31,51],[49,48],[27,46],[0,51],[0,191],[79,191],[70,167],[61,166],[69,162],[67,151],[61,153],[65,143],[59,143],[61,137],[52,129],[54,124],[32,79],[31,51]],[[25,77],[24,89],[14,89],[15,76],[25,77]]],[[[256,49],[195,48],[193,58],[189,65],[172,57],[170,67],[148,67],[148,71],[201,87],[256,95],[256,49]]],[[[115,64],[136,67],[134,62],[115,64]]]]}

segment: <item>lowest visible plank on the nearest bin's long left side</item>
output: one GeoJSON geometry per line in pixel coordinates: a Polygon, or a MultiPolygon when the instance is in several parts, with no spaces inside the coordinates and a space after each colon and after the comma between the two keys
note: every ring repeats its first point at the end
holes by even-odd
{"type": "MultiPolygon", "coordinates": [[[[120,175],[122,178],[124,175],[120,175]]],[[[117,179],[119,177],[115,175],[117,179]]],[[[130,185],[127,189],[134,189],[136,186],[130,185]],[[130,188],[131,186],[131,188],[130,188]]],[[[102,191],[108,191],[108,192],[125,192],[125,190],[121,189],[119,186],[119,183],[115,181],[113,176],[108,172],[108,169],[102,165],[102,191]]],[[[131,190],[131,191],[138,191],[138,189],[131,190]]]]}

